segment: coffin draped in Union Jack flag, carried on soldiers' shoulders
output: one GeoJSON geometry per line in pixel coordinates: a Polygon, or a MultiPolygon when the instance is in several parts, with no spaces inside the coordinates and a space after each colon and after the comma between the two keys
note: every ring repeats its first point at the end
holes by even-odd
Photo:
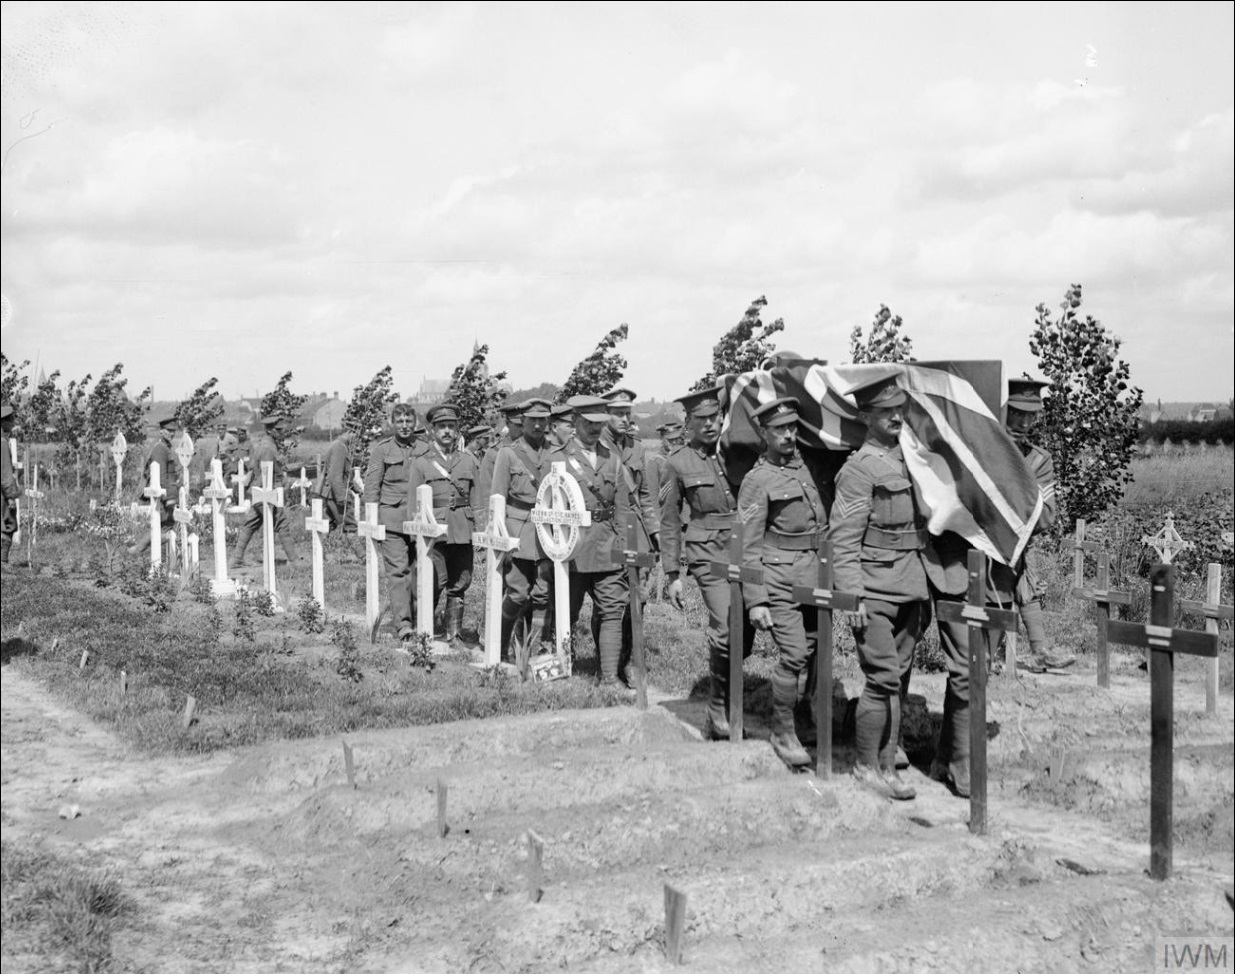
{"type": "Polygon", "coordinates": [[[829,365],[794,359],[731,377],[721,432],[730,474],[745,474],[762,446],[751,412],[779,396],[793,396],[800,404],[803,456],[816,479],[830,483],[845,454],[866,435],[852,393],[888,378],[909,395],[900,443],[930,532],[952,531],[987,557],[1014,564],[1044,499],[999,418],[1004,385],[999,362],[829,365]]]}

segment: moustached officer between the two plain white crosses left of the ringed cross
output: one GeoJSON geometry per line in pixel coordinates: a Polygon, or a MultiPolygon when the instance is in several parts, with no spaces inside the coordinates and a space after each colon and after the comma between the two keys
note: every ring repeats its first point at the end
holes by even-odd
{"type": "Polygon", "coordinates": [[[429,557],[433,563],[433,607],[446,595],[446,641],[459,643],[463,623],[463,597],[472,585],[472,531],[474,509],[480,502],[475,458],[458,449],[459,414],[451,402],[433,406],[425,416],[432,431],[432,444],[414,457],[408,474],[408,510],[416,510],[416,490],[427,484],[433,491],[433,516],[446,525],[446,535],[433,542],[429,557]]]}

